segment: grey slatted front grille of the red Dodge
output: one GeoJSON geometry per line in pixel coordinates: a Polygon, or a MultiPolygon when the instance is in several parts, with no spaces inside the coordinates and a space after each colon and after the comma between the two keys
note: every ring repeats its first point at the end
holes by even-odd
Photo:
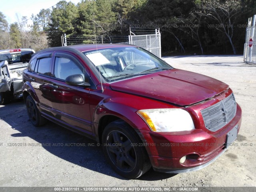
{"type": "Polygon", "coordinates": [[[204,125],[210,131],[217,131],[228,124],[236,115],[234,94],[224,100],[201,110],[204,125]]]}

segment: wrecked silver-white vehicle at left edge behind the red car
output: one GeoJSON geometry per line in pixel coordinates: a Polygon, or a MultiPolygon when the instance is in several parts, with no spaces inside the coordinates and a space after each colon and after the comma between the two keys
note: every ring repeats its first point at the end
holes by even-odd
{"type": "Polygon", "coordinates": [[[22,72],[34,52],[32,49],[0,50],[0,105],[22,98],[22,72]]]}

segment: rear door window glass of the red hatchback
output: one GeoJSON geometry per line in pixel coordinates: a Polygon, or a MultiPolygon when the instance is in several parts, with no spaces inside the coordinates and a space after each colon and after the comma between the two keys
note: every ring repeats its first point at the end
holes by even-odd
{"type": "Polygon", "coordinates": [[[34,72],[51,76],[51,64],[52,64],[52,58],[42,58],[38,59],[36,62],[35,70],[34,72]]]}

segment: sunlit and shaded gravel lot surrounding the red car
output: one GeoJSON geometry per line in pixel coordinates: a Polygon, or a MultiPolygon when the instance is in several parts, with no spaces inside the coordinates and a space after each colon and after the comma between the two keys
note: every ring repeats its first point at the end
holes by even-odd
{"type": "Polygon", "coordinates": [[[54,123],[35,128],[19,101],[0,106],[0,186],[256,186],[256,67],[242,63],[242,56],[164,60],[229,84],[242,107],[238,138],[214,163],[196,172],[150,170],[126,180],[112,171],[96,142],[54,123]]]}

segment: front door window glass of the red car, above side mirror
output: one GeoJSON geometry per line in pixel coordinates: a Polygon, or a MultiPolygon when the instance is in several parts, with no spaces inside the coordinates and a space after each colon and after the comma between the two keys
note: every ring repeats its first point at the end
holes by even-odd
{"type": "Polygon", "coordinates": [[[71,57],[55,57],[54,77],[65,80],[68,76],[74,74],[82,74],[84,77],[84,69],[75,59],[71,57]]]}

